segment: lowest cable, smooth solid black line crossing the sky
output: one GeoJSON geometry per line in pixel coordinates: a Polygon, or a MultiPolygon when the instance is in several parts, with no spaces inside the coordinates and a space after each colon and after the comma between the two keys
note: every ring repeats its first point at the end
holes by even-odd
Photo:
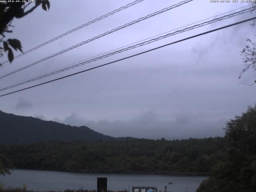
{"type": "Polygon", "coordinates": [[[67,78],[67,77],[70,77],[70,76],[73,76],[73,75],[76,75],[76,74],[80,74],[80,73],[83,73],[83,72],[86,72],[86,71],[90,71],[90,70],[93,70],[93,69],[96,69],[96,68],[100,68],[100,67],[102,67],[102,66],[106,66],[106,65],[109,65],[109,64],[118,62],[118,61],[122,61],[122,60],[125,60],[125,59],[128,59],[128,58],[132,58],[132,57],[134,57],[134,56],[138,56],[138,55],[140,55],[140,54],[144,54],[144,53],[147,53],[147,52],[150,52],[150,51],[153,51],[153,50],[156,50],[156,49],[165,47],[165,46],[169,46],[169,45],[171,45],[171,44],[175,44],[175,43],[178,43],[178,42],[182,42],[182,41],[185,41],[185,40],[188,40],[188,39],[191,39],[191,38],[195,38],[195,37],[198,37],[198,36],[201,36],[201,35],[204,35],[204,34],[208,34],[208,33],[211,33],[211,32],[217,31],[217,30],[221,30],[221,29],[224,29],[224,28],[228,28],[228,27],[230,27],[230,26],[234,26],[234,25],[237,25],[237,24],[241,24],[241,23],[244,23],[244,22],[247,22],[247,21],[250,21],[250,20],[254,20],[254,19],[256,19],[256,17],[253,17],[253,18],[250,18],[250,19],[247,19],[247,20],[243,20],[243,21],[240,21],[240,22],[236,22],[236,23],[233,23],[233,24],[230,24],[230,25],[226,25],[226,26],[224,26],[224,27],[216,28],[216,29],[214,29],[214,30],[210,30],[210,31],[207,31],[207,32],[204,32],[204,33],[200,33],[200,34],[197,34],[197,35],[194,35],[194,36],[190,36],[190,37],[184,38],[184,39],[182,39],[182,40],[178,40],[178,41],[175,41],[175,42],[172,42],[172,43],[169,43],[169,44],[165,44],[165,45],[162,45],[162,46],[159,46],[159,47],[150,49],[150,50],[146,50],[146,51],[144,51],[144,52],[140,52],[140,53],[138,53],[138,54],[134,54],[134,55],[131,55],[131,56],[122,58],[122,59],[118,59],[118,60],[115,60],[115,61],[112,61],[112,62],[108,62],[108,63],[106,63],[106,64],[102,64],[102,65],[99,65],[99,66],[96,66],[96,67],[93,67],[93,68],[89,68],[89,69],[86,69],[86,70],[83,70],[83,71],[80,71],[80,72],[76,72],[76,73],[73,73],[73,74],[70,74],[70,75],[67,75],[67,76],[63,76],[63,77],[60,77],[60,78],[56,78],[56,79],[54,79],[54,80],[50,80],[50,81],[47,81],[47,82],[44,82],[44,83],[40,83],[40,84],[37,84],[37,85],[34,85],[34,86],[30,86],[30,87],[27,87],[27,88],[24,88],[24,89],[20,89],[20,90],[14,91],[14,92],[10,92],[10,93],[7,93],[7,94],[3,94],[3,95],[0,95],[0,97],[6,96],[6,95],[9,95],[9,94],[13,94],[13,93],[16,93],[16,92],[20,92],[20,91],[23,91],[23,90],[27,90],[27,89],[30,89],[30,88],[34,88],[34,87],[36,87],[36,86],[40,86],[40,85],[47,84],[47,83],[50,83],[50,82],[54,82],[54,81],[57,81],[57,80],[60,80],[60,79],[64,79],[64,78],[67,78]]]}

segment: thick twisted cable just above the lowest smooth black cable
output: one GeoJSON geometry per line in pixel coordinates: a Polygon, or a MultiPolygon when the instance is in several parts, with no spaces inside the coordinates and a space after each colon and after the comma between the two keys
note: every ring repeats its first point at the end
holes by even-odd
{"type": "Polygon", "coordinates": [[[244,10],[241,10],[241,11],[238,11],[238,12],[234,12],[232,14],[228,14],[228,15],[225,15],[225,16],[222,16],[222,17],[219,17],[219,18],[214,18],[213,20],[210,20],[210,21],[206,21],[206,22],[203,22],[203,23],[200,23],[200,24],[197,24],[197,25],[194,25],[194,26],[191,26],[191,27],[188,27],[188,28],[184,28],[182,30],[177,30],[173,33],[169,33],[169,34],[166,34],[164,36],[159,36],[157,38],[154,38],[154,39],[151,39],[151,40],[148,40],[148,41],[145,41],[145,42],[142,42],[142,43],[139,43],[139,44],[136,44],[136,45],[133,45],[133,46],[129,46],[127,48],[123,48],[121,50],[117,50],[115,52],[111,52],[109,54],[106,54],[106,55],[103,55],[103,56],[100,56],[100,57],[97,57],[97,58],[94,58],[94,59],[91,59],[91,60],[87,60],[85,62],[81,62],[79,64],[76,64],[76,65],[73,65],[73,66],[70,66],[70,67],[66,67],[66,68],[63,68],[61,70],[57,70],[57,71],[54,71],[54,72],[51,72],[51,73],[48,73],[48,74],[44,74],[42,76],[38,76],[36,78],[32,78],[30,80],[25,80],[23,82],[20,82],[20,83],[17,83],[17,84],[14,84],[12,86],[8,86],[8,87],[5,87],[5,88],[1,88],[0,91],[4,91],[4,90],[7,90],[7,89],[10,89],[10,88],[14,88],[14,87],[17,87],[17,86],[20,86],[20,85],[23,85],[23,84],[26,84],[26,83],[30,83],[30,82],[33,82],[35,80],[39,80],[39,79],[42,79],[42,78],[45,78],[45,77],[48,77],[48,76],[52,76],[54,74],[58,74],[60,72],[64,72],[66,70],[70,70],[72,68],[76,68],[78,66],[82,66],[84,64],[88,64],[90,62],[94,62],[94,61],[97,61],[97,60],[100,60],[100,59],[103,59],[103,58],[106,58],[106,57],[109,57],[109,56],[112,56],[114,54],[118,54],[118,53],[121,53],[121,52],[124,52],[124,51],[127,51],[127,50],[131,50],[131,49],[134,49],[134,48],[137,48],[137,47],[140,47],[140,46],[144,46],[146,44],[150,44],[152,42],[155,42],[155,41],[158,41],[158,40],[161,40],[161,39],[164,39],[164,38],[167,38],[169,36],[173,36],[173,35],[176,35],[176,34],[179,34],[179,33],[182,33],[182,32],[186,32],[188,30],[193,30],[195,28],[199,28],[199,27],[202,27],[202,26],[205,26],[205,25],[208,25],[208,24],[212,24],[213,22],[218,22],[220,20],[224,20],[224,19],[227,19],[227,18],[231,18],[231,17],[234,17],[234,16],[237,16],[237,15],[240,15],[240,14],[244,14],[244,13],[247,13],[247,12],[251,12],[253,11],[255,8],[254,7],[251,7],[251,8],[247,8],[247,9],[244,9],[244,10]]]}

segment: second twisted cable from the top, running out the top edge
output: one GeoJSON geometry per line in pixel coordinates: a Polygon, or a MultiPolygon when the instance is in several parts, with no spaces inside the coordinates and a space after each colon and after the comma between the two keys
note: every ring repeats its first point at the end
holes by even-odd
{"type": "Polygon", "coordinates": [[[171,9],[173,9],[173,8],[176,8],[176,7],[178,7],[178,6],[181,6],[181,5],[183,5],[183,4],[186,4],[186,3],[190,2],[190,1],[193,1],[193,0],[184,0],[184,1],[182,1],[182,2],[179,2],[179,3],[177,3],[177,4],[172,5],[172,6],[170,6],[170,7],[164,8],[164,9],[162,9],[162,10],[160,10],[160,11],[154,12],[154,13],[152,13],[152,14],[149,14],[149,15],[147,15],[147,16],[144,16],[144,17],[142,17],[142,18],[139,18],[139,19],[137,19],[137,20],[134,20],[134,21],[132,21],[132,22],[130,22],[130,23],[127,23],[127,24],[124,24],[124,25],[122,25],[122,26],[119,26],[119,27],[117,27],[117,28],[115,28],[115,29],[112,29],[112,30],[110,30],[110,31],[108,31],[108,32],[102,33],[102,34],[100,34],[100,35],[98,35],[98,36],[95,36],[95,37],[93,37],[93,38],[91,38],[91,39],[88,39],[88,40],[86,40],[86,41],[83,41],[83,42],[81,42],[81,43],[79,43],[79,44],[76,44],[76,45],[74,45],[74,46],[72,46],[72,47],[69,47],[69,48],[67,48],[67,49],[65,49],[65,50],[62,50],[62,51],[60,51],[60,52],[57,52],[57,53],[55,53],[55,54],[53,54],[53,55],[51,55],[51,56],[48,56],[48,57],[43,58],[43,59],[41,59],[41,60],[38,60],[38,61],[36,61],[36,62],[34,62],[34,63],[32,63],[32,64],[29,64],[29,65],[24,66],[24,67],[22,67],[22,68],[20,68],[20,69],[17,69],[17,70],[14,70],[14,71],[12,71],[12,72],[10,72],[10,73],[8,73],[8,74],[5,74],[5,75],[1,76],[0,79],[4,78],[4,77],[6,77],[6,76],[9,76],[9,75],[11,75],[11,74],[14,74],[14,73],[16,73],[16,72],[19,72],[19,71],[21,71],[21,70],[24,70],[24,69],[26,69],[26,68],[28,68],[28,67],[31,67],[31,66],[33,66],[33,65],[35,65],[35,64],[38,64],[38,63],[40,63],[40,62],[42,62],[42,61],[44,61],[44,60],[47,60],[47,59],[49,59],[49,58],[52,58],[52,57],[57,56],[57,55],[59,55],[59,54],[62,54],[62,53],[64,53],[64,52],[67,52],[67,51],[69,51],[69,50],[72,50],[72,49],[74,49],[74,48],[77,48],[78,46],[81,46],[81,45],[83,45],[83,44],[86,44],[86,43],[88,43],[88,42],[91,42],[91,41],[93,41],[93,40],[95,40],[95,39],[98,39],[98,38],[101,38],[101,37],[106,36],[106,35],[108,35],[108,34],[111,34],[112,32],[118,31],[118,30],[120,30],[120,29],[122,29],[122,28],[125,28],[125,27],[130,26],[130,25],[135,24],[135,23],[138,23],[138,22],[140,22],[140,21],[142,21],[142,20],[145,20],[145,19],[147,19],[147,18],[150,18],[150,17],[152,17],[152,16],[156,16],[156,15],[158,15],[158,14],[160,14],[160,13],[166,12],[166,11],[168,11],[168,10],[171,10],[171,9]]]}

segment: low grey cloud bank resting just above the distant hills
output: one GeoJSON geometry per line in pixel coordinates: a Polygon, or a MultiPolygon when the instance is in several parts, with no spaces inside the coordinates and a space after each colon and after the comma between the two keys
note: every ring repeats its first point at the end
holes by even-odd
{"type": "Polygon", "coordinates": [[[223,136],[226,120],[213,114],[176,114],[170,120],[161,120],[153,111],[141,112],[130,120],[98,120],[82,118],[76,113],[64,118],[54,119],[72,126],[88,126],[100,133],[114,137],[132,136],[136,138],[204,138],[223,136]]]}

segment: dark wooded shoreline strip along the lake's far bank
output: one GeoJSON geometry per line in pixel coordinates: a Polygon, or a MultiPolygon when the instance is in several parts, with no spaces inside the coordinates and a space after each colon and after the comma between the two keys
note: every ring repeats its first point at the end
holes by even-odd
{"type": "Polygon", "coordinates": [[[38,142],[0,146],[16,168],[85,173],[208,175],[224,138],[38,142]]]}

